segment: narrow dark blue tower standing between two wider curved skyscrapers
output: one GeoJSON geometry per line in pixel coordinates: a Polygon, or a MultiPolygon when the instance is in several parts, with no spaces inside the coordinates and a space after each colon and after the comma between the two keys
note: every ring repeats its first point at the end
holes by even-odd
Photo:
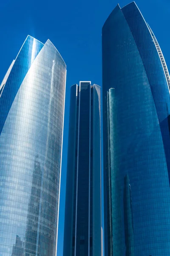
{"type": "Polygon", "coordinates": [[[100,87],[71,87],[63,256],[101,256],[100,87]]]}

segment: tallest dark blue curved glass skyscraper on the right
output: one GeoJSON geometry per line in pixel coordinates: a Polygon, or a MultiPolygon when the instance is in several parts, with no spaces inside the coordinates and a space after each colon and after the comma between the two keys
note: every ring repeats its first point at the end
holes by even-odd
{"type": "Polygon", "coordinates": [[[134,2],[102,28],[105,256],[170,255],[170,77],[134,2]]]}

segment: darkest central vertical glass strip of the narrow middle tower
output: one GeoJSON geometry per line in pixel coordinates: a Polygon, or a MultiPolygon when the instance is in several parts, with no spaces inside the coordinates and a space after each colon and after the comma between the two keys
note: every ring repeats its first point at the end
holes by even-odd
{"type": "Polygon", "coordinates": [[[76,256],[88,255],[90,90],[91,84],[89,82],[81,82],[79,98],[76,256]]]}

